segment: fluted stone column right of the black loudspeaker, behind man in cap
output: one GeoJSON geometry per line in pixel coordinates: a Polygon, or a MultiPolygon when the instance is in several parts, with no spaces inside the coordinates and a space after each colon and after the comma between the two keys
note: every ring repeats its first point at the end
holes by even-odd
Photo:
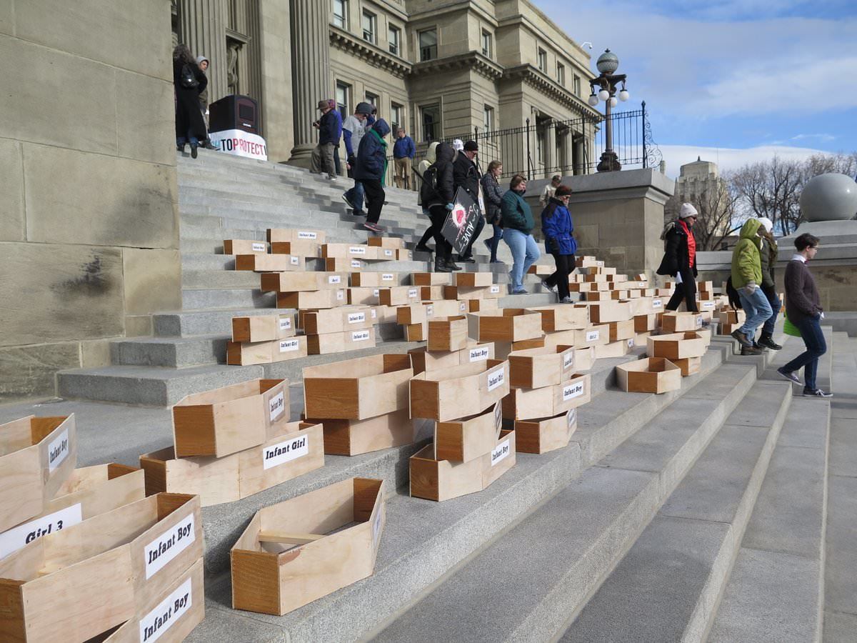
{"type": "Polygon", "coordinates": [[[318,141],[313,122],[321,99],[333,98],[330,82],[330,36],[327,0],[291,3],[291,61],[295,117],[295,147],[291,165],[309,167],[309,157],[318,141]]]}

